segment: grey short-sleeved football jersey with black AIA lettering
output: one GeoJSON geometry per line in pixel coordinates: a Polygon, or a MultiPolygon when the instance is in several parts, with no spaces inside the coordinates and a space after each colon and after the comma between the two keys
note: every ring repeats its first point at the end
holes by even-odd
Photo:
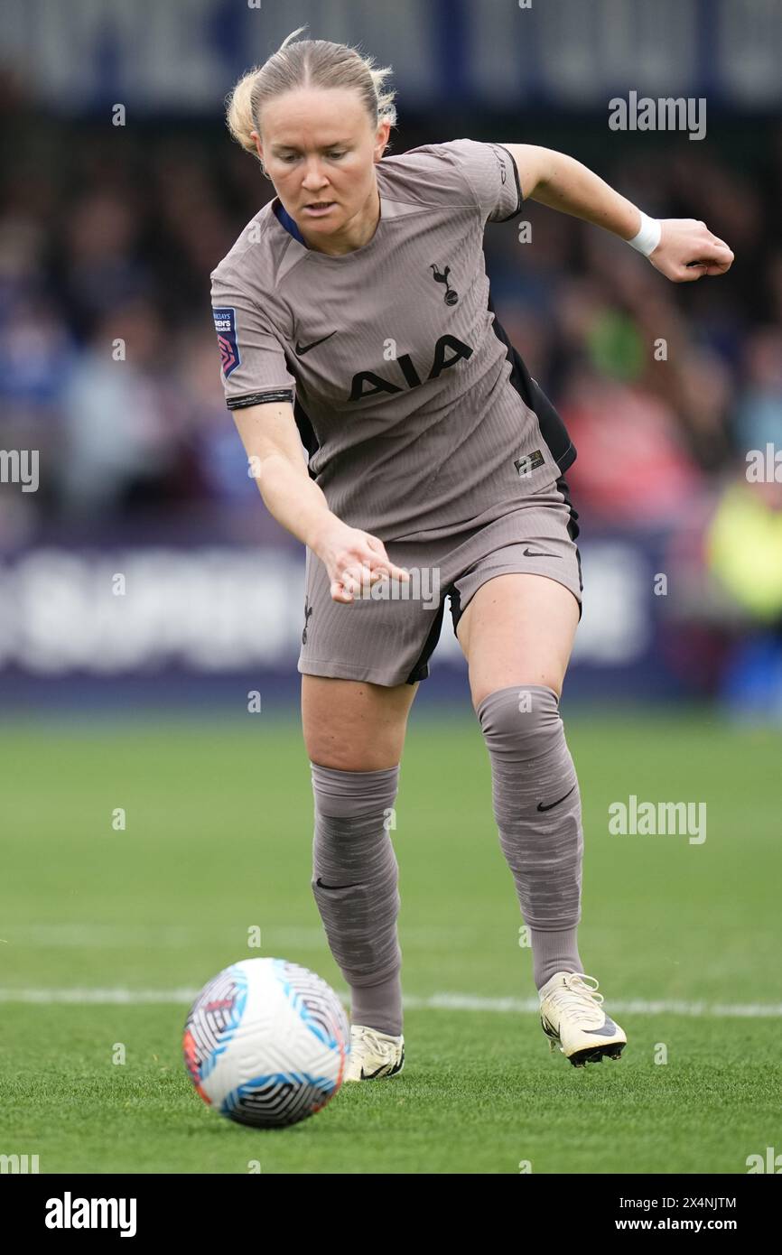
{"type": "Polygon", "coordinates": [[[353,252],[308,248],[277,197],[247,223],[211,276],[222,380],[230,409],[295,405],[345,523],[436,538],[513,510],[575,449],[491,309],[483,228],[522,207],[510,152],[454,139],[375,173],[380,220],[353,252]]]}

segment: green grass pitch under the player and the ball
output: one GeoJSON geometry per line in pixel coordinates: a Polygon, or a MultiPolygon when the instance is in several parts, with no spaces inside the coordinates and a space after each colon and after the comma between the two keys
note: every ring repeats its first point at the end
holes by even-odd
{"type": "Polygon", "coordinates": [[[581,958],[628,1033],[623,1059],[576,1069],[532,1004],[502,1009],[535,990],[488,759],[468,704],[414,709],[392,832],[405,1067],[281,1131],[210,1111],[179,1039],[188,991],[240,958],[287,958],[345,991],[309,884],[290,710],[0,729],[0,1152],[41,1172],[743,1173],[782,1151],[778,734],[699,712],[564,713],[581,958]],[[631,793],[705,802],[707,840],[611,836],[608,807],[631,793]],[[748,1004],[766,1013],[737,1014],[748,1004]]]}

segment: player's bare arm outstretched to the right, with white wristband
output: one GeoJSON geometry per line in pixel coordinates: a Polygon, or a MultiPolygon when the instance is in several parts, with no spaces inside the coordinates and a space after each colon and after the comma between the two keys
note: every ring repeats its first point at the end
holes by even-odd
{"type": "MultiPolygon", "coordinates": [[[[634,240],[645,223],[641,211],[609,187],[594,171],[566,153],[536,144],[503,144],[518,171],[525,200],[538,201],[562,213],[611,231],[623,240],[634,240]]],[[[733,254],[695,218],[661,218],[659,243],[648,254],[649,261],[674,282],[688,282],[702,275],[724,275],[733,254]]],[[[643,250],[645,251],[645,250],[643,250]]]]}

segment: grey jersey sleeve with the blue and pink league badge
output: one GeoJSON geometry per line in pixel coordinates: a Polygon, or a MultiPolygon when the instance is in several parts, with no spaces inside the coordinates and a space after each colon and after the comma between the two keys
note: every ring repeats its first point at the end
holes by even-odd
{"type": "Polygon", "coordinates": [[[292,405],[296,380],[287,369],[282,341],[260,306],[213,274],[212,314],[228,409],[275,400],[292,405]]]}

